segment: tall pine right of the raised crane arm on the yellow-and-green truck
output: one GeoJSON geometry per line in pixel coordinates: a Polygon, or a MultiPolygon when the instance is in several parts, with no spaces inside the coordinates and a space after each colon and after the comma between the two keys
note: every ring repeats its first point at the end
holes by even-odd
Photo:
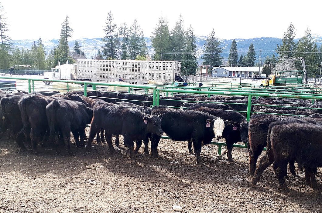
{"type": "MultiPolygon", "coordinates": [[[[309,29],[309,27],[307,27],[306,31],[304,32],[304,36],[302,36],[298,41],[298,46],[296,49],[298,53],[296,54],[296,56],[303,57],[305,59],[305,64],[309,76],[313,76],[314,74],[316,74],[317,69],[315,54],[310,53],[313,52],[313,48],[314,41],[311,35],[311,30],[309,29]]],[[[297,62],[296,64],[297,69],[302,70],[301,64],[299,62],[297,62]]]]}

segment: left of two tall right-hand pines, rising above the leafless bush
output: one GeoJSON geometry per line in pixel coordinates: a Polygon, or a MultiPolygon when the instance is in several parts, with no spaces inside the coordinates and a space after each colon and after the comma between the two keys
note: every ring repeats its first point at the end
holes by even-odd
{"type": "Polygon", "coordinates": [[[290,23],[286,32],[284,32],[282,44],[277,45],[277,48],[275,49],[280,58],[289,59],[294,56],[294,53],[292,53],[291,51],[294,51],[297,48],[297,43],[294,40],[295,36],[295,27],[292,23],[290,23]]]}

